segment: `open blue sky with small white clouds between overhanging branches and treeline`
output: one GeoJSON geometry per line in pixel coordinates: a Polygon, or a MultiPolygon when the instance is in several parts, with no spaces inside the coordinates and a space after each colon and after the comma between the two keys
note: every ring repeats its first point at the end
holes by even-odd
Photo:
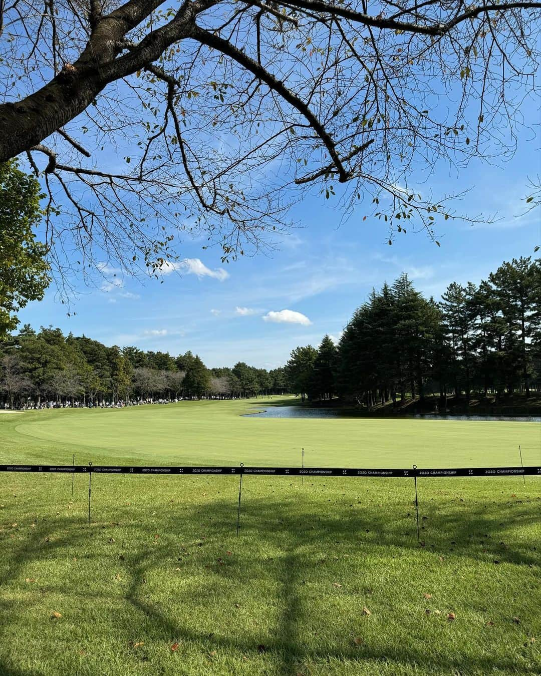
{"type": "MultiPolygon", "coordinates": [[[[539,110],[532,106],[528,114],[532,124],[539,123],[539,110]]],[[[21,325],[53,324],[106,345],[174,355],[191,349],[208,366],[239,360],[280,366],[296,345],[317,345],[325,333],[339,337],[371,288],[392,283],[402,271],[417,289],[439,299],[452,281],[478,283],[503,260],[533,255],[541,240],[540,210],[519,216],[528,178],[541,173],[539,138],[532,136],[523,135],[511,160],[475,162],[460,172],[438,165],[421,185],[411,177],[408,187],[421,193],[428,185],[435,195],[470,189],[456,203],[457,212],[498,215],[493,224],[444,222],[439,248],[423,233],[409,231],[389,246],[382,222],[362,220],[367,214],[362,204],[340,224],[332,202],[314,195],[293,209],[298,227],[275,251],[228,265],[220,262],[219,249],[204,250],[204,241],[186,239],[179,253],[188,262],[164,275],[163,283],[142,285],[104,266],[110,283],[78,287],[70,308],[74,316],[68,316],[51,287],[43,301],[20,312],[21,325]]]]}

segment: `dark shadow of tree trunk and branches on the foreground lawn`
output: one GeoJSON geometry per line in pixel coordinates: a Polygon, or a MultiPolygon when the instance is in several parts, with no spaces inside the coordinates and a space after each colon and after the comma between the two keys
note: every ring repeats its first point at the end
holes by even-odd
{"type": "MultiPolygon", "coordinates": [[[[351,494],[353,496],[354,491],[351,494]]],[[[335,493],[333,497],[336,498],[335,493]]],[[[389,548],[398,552],[409,552],[410,556],[419,558],[440,552],[448,556],[451,550],[453,557],[486,564],[490,563],[488,556],[492,556],[494,551],[498,554],[498,562],[502,564],[534,566],[536,569],[541,565],[540,552],[535,550],[531,541],[524,541],[520,537],[509,539],[509,533],[539,523],[541,504],[538,500],[467,504],[464,518],[458,518],[456,501],[450,498],[421,501],[421,535],[424,541],[420,546],[417,542],[415,508],[410,498],[406,498],[404,493],[404,496],[398,498],[394,496],[392,504],[383,505],[371,502],[372,497],[377,499],[377,496],[371,494],[368,499],[365,496],[363,500],[354,500],[348,498],[347,493],[342,493],[338,501],[333,500],[329,511],[323,511],[319,488],[316,490],[307,487],[304,493],[291,492],[291,496],[281,493],[280,496],[264,497],[256,497],[248,489],[241,503],[241,534],[238,539],[234,538],[235,501],[220,498],[204,506],[184,504],[179,518],[179,514],[175,513],[174,508],[164,498],[161,504],[160,500],[156,501],[156,507],[161,509],[160,528],[163,533],[167,533],[167,537],[152,548],[147,548],[146,544],[143,546],[149,540],[150,529],[145,519],[147,512],[143,507],[139,514],[135,510],[129,511],[111,504],[104,507],[99,504],[99,498],[96,498],[93,513],[99,521],[91,529],[85,528],[78,517],[56,518],[37,523],[32,529],[31,537],[27,537],[20,544],[15,542],[11,550],[3,551],[0,560],[0,602],[3,611],[0,631],[5,641],[9,636],[10,603],[2,598],[2,589],[22,577],[22,570],[28,564],[43,558],[54,559],[66,546],[74,549],[83,544],[91,550],[91,563],[101,556],[118,554],[117,550],[114,550],[116,554],[104,552],[103,548],[100,549],[101,545],[99,546],[110,532],[116,531],[116,521],[111,521],[111,516],[114,516],[122,522],[122,526],[118,527],[123,533],[122,537],[140,545],[122,560],[122,571],[128,577],[128,586],[122,598],[136,611],[139,625],[144,626],[149,639],[165,640],[170,644],[179,640],[195,642],[207,652],[227,648],[237,654],[239,659],[246,654],[257,654],[261,642],[258,631],[244,630],[241,635],[235,631],[206,633],[194,628],[189,617],[184,621],[172,619],[158,600],[149,598],[145,589],[145,577],[148,577],[149,572],[163,567],[164,562],[169,564],[177,560],[180,548],[189,554],[197,552],[201,556],[193,566],[202,566],[208,561],[208,581],[195,592],[191,589],[189,594],[192,602],[208,607],[213,598],[220,594],[219,583],[223,579],[239,585],[257,584],[260,558],[250,549],[250,541],[256,538],[262,551],[282,552],[274,572],[281,614],[273,637],[268,639],[264,647],[279,665],[275,673],[295,674],[302,669],[306,660],[329,659],[352,663],[372,660],[381,662],[382,665],[396,663],[401,667],[423,668],[427,671],[439,669],[451,673],[453,670],[465,670],[467,673],[490,673],[497,670],[515,674],[532,673],[526,667],[519,667],[512,655],[492,658],[486,650],[481,649],[465,665],[461,658],[434,655],[429,648],[423,651],[413,644],[398,646],[390,642],[385,650],[375,646],[354,645],[337,648],[328,639],[321,639],[316,649],[304,646],[300,632],[304,621],[304,602],[298,590],[304,578],[319,565],[317,560],[322,556],[321,552],[337,551],[342,556],[354,557],[358,556],[360,550],[369,550],[375,556],[381,552],[383,559],[389,548]],[[292,503],[295,510],[289,509],[292,503]],[[202,529],[202,520],[205,523],[206,539],[198,536],[202,529]],[[222,566],[215,564],[212,551],[216,549],[217,543],[224,541],[235,541],[235,550],[239,554],[222,566]],[[94,544],[90,544],[92,542],[94,544]],[[181,545],[183,542],[185,544],[181,545]],[[490,551],[483,552],[487,548],[490,551]]],[[[80,585],[73,585],[72,589],[70,586],[69,580],[64,585],[53,583],[49,585],[48,591],[62,594],[69,588],[73,596],[91,596],[85,589],[80,589],[80,585]]],[[[113,596],[104,591],[103,594],[96,594],[95,598],[111,601],[113,596]]],[[[182,598],[178,600],[182,602],[182,598]]],[[[137,627],[137,621],[133,624],[133,615],[130,615],[129,624],[124,622],[120,627],[115,626],[114,631],[133,635],[134,632],[137,634],[140,627],[137,627]]],[[[0,674],[22,676],[23,673],[41,676],[37,671],[18,671],[16,667],[8,666],[7,662],[0,662],[0,674]]]]}

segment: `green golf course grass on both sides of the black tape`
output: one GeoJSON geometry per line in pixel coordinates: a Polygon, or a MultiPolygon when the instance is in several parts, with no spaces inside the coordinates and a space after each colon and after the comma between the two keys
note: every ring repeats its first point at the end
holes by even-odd
{"type": "MultiPolygon", "coordinates": [[[[255,403],[1,414],[0,463],[540,462],[533,423],[255,403]]],[[[239,477],[95,475],[90,529],[71,479],[0,474],[2,676],[541,673],[539,477],[419,479],[421,547],[407,479],[244,477],[239,537],[239,477]]]]}

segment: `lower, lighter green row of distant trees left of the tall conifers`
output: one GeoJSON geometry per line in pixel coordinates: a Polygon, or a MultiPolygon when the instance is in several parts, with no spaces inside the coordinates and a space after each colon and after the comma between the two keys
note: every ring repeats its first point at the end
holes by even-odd
{"type": "Polygon", "coordinates": [[[0,403],[103,405],[192,397],[248,397],[283,393],[283,368],[267,371],[244,362],[208,369],[191,352],[143,352],[106,347],[85,336],[26,324],[0,347],[0,403]]]}

